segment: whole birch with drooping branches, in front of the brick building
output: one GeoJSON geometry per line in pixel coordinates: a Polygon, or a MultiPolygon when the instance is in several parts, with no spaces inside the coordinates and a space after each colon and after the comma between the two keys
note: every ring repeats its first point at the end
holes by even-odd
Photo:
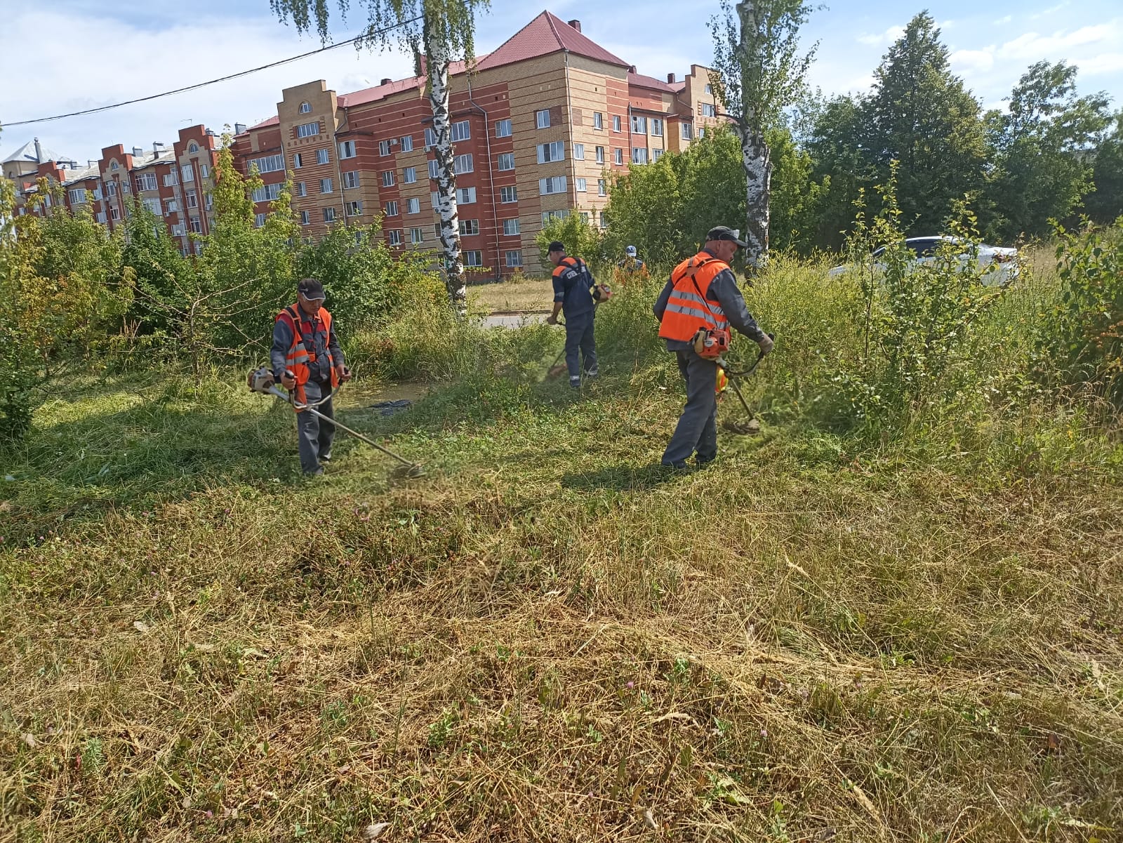
{"type": "MultiPolygon", "coordinates": [[[[338,3],[340,15],[346,15],[348,0],[338,3]]],[[[448,68],[454,58],[464,58],[469,65],[475,58],[475,16],[477,10],[490,6],[490,0],[360,0],[360,4],[367,15],[362,43],[373,49],[398,46],[412,52],[417,74],[426,76],[436,136],[437,212],[445,284],[453,304],[463,312],[467,288],[453,169],[448,68]]],[[[328,0],[270,0],[270,6],[282,21],[291,20],[298,31],[314,26],[321,40],[328,40],[328,0]]]]}

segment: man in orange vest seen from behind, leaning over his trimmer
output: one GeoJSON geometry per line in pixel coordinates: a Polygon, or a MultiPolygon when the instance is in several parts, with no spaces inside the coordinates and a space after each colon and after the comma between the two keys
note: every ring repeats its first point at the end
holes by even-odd
{"type": "Polygon", "coordinates": [[[728,331],[730,326],[760,346],[761,355],[772,351],[773,340],[757,326],[745,306],[729,262],[745,244],[739,231],[718,226],[710,229],[702,251],[675,267],[670,280],[655,303],[659,336],[667,350],[678,358],[678,370],[686,381],[686,409],[663,453],[663,465],[685,469],[686,460],[697,453],[704,466],[718,456],[718,361],[695,351],[699,330],[728,331]]]}

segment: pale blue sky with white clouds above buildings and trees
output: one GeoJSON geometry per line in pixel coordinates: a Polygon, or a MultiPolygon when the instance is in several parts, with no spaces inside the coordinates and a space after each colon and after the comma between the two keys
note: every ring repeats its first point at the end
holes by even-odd
{"type": "MultiPolygon", "coordinates": [[[[328,0],[338,8],[338,0],[328,0]]],[[[362,29],[362,0],[350,18],[334,18],[332,39],[362,29]]],[[[579,19],[593,40],[640,73],[679,77],[713,58],[710,18],[719,0],[555,0],[527,6],[493,0],[477,22],[476,49],[494,49],[544,8],[579,19]]],[[[1123,108],[1123,3],[1120,0],[825,0],[805,26],[805,47],[818,43],[807,81],[824,93],[868,89],[874,68],[902,28],[928,9],[940,24],[951,67],[983,102],[1002,108],[1019,76],[1034,62],[1066,59],[1079,67],[1078,91],[1106,91],[1123,108]]],[[[146,97],[286,58],[321,46],[271,12],[268,0],[167,0],[107,3],[0,0],[0,123],[49,117],[146,97]]],[[[401,52],[358,53],[351,46],[230,82],[135,106],[0,131],[0,161],[38,137],[80,165],[103,146],[149,148],[171,143],[181,128],[216,131],[253,125],[275,113],[281,90],[323,79],[339,93],[412,73],[401,52]]]]}

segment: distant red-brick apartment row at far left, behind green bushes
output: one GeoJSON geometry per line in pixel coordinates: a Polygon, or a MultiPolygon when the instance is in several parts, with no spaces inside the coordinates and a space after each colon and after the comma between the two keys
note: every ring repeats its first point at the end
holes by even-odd
{"type": "Polygon", "coordinates": [[[181,129],[171,146],[155,143],[152,149],[133,147],[130,152],[120,144],[107,146],[100,159],[84,167],[45,149],[36,139],[3,162],[3,174],[16,183],[17,213],[49,213],[55,201],[49,194],[42,209],[29,204],[38,192],[38,180],[45,177],[62,186],[63,202],[72,211],[90,202],[94,219],[110,231],[125,220],[135,195],[164,220],[180,251],[188,255],[199,251],[189,235],[210,230],[217,157],[218,138],[199,125],[181,129]]]}

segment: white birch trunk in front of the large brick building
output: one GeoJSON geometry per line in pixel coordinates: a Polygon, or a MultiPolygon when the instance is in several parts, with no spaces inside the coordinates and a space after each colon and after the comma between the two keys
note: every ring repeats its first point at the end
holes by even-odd
{"type": "Polygon", "coordinates": [[[448,112],[448,45],[428,19],[422,27],[426,70],[429,76],[429,104],[437,144],[437,213],[440,216],[440,249],[445,265],[445,286],[453,305],[462,314],[467,310],[464,258],[460,255],[460,222],[456,208],[456,173],[453,168],[453,136],[448,112]]]}

